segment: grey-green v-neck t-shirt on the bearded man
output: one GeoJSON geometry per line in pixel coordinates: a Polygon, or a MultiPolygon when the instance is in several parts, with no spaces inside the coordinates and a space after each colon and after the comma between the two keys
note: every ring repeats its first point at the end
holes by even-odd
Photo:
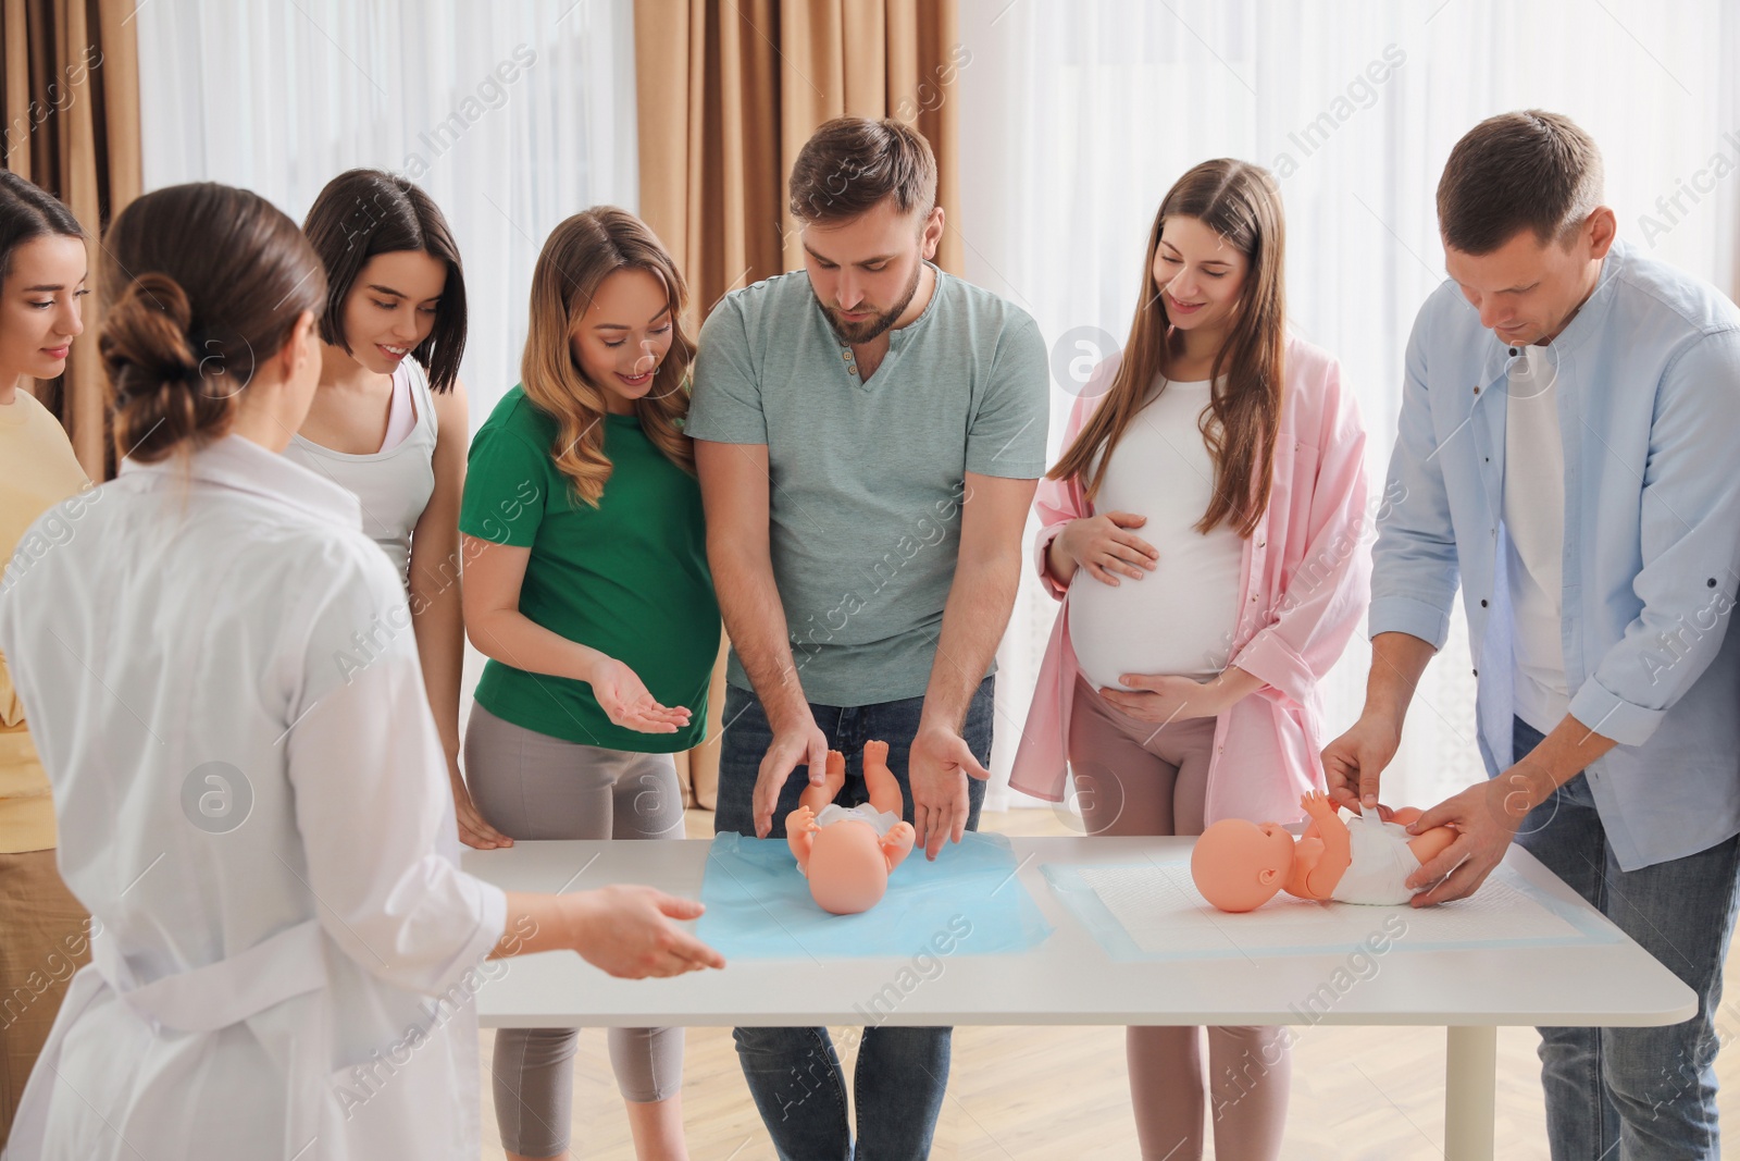
{"type": "MultiPolygon", "coordinates": [[[[1037,324],[941,270],[924,313],[889,331],[868,381],[804,272],[713,310],[687,432],[767,446],[773,574],[811,701],[924,695],[960,550],[964,473],[1039,479],[1046,416],[1037,324]]],[[[736,651],[727,681],[752,688],[736,651]]]]}

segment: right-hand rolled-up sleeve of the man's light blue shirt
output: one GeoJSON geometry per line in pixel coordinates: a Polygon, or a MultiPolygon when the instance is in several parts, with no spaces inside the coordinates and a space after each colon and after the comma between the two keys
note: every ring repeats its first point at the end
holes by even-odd
{"type": "Polygon", "coordinates": [[[1740,581],[1740,331],[1691,343],[1662,376],[1641,494],[1643,609],[1571,698],[1571,715],[1641,745],[1716,660],[1740,581]]]}

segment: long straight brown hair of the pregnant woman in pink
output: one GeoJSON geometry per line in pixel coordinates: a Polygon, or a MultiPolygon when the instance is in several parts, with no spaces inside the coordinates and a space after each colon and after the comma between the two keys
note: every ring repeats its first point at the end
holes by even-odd
{"type": "Polygon", "coordinates": [[[1232,331],[1215,352],[1209,406],[1199,421],[1215,461],[1215,498],[1195,526],[1208,533],[1225,520],[1239,536],[1249,536],[1268,508],[1286,352],[1286,223],[1275,179],[1260,165],[1232,158],[1202,162],[1166,193],[1148,232],[1141,298],[1117,374],[1105,402],[1047,477],[1082,477],[1093,500],[1105,482],[1112,449],[1141,411],[1168,357],[1181,350],[1183,336],[1173,329],[1154,280],[1154,252],[1168,218],[1199,219],[1249,259],[1232,331]]]}

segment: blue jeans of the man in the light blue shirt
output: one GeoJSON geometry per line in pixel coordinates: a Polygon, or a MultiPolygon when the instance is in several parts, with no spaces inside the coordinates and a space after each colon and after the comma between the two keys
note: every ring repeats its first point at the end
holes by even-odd
{"type": "MultiPolygon", "coordinates": [[[[1514,729],[1517,757],[1540,745],[1528,722],[1514,729]]],[[[1714,1017],[1740,837],[1620,870],[1589,782],[1576,775],[1529,811],[1517,842],[1698,994],[1698,1015],[1669,1027],[1538,1029],[1554,1161],[1717,1161],[1714,1017]]]]}

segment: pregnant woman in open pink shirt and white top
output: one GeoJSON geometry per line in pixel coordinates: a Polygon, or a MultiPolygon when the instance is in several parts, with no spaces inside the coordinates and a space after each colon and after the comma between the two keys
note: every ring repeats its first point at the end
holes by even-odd
{"type": "MultiPolygon", "coordinates": [[[[1039,486],[1063,601],[1011,785],[1089,834],[1289,822],[1322,785],[1317,682],[1366,609],[1364,430],[1340,366],[1286,334],[1281,195],[1235,160],[1168,191],[1122,355],[1039,486]]],[[[1201,1034],[1131,1027],[1143,1156],[1201,1158],[1201,1034]]],[[[1288,1034],[1209,1029],[1215,1156],[1279,1158],[1288,1034]]]]}

